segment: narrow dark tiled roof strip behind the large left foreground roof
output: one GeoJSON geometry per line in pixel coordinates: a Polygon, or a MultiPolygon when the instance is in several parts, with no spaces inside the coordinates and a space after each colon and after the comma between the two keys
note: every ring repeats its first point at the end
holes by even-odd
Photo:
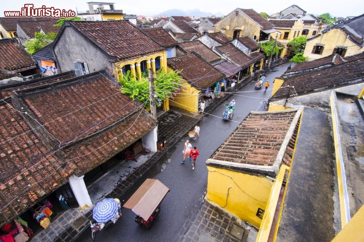
{"type": "Polygon", "coordinates": [[[34,88],[50,83],[56,83],[60,80],[65,80],[74,77],[73,71],[62,72],[57,75],[22,81],[22,82],[15,82],[15,83],[8,83],[7,85],[0,85],[0,98],[9,97],[13,91],[19,91],[28,88],[34,88]]]}

